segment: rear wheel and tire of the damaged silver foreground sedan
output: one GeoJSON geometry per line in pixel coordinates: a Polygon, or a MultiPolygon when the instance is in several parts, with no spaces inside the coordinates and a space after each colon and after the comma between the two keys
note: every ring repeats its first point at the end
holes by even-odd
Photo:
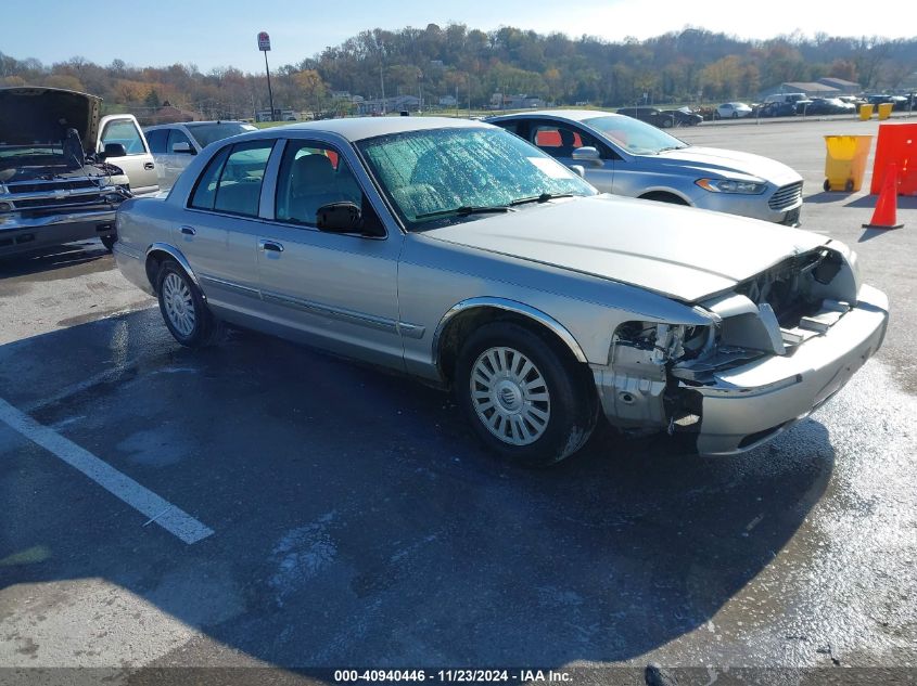
{"type": "Polygon", "coordinates": [[[173,337],[188,348],[216,341],[222,326],[204,302],[201,289],[175,260],[164,260],[156,276],[160,312],[173,337]]]}

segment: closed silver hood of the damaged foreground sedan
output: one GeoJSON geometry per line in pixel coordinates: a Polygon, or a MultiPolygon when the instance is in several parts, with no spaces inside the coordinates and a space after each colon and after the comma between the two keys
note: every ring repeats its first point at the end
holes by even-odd
{"type": "Polygon", "coordinates": [[[731,289],[825,236],[613,195],[558,200],[424,236],[639,286],[685,302],[731,289]]]}

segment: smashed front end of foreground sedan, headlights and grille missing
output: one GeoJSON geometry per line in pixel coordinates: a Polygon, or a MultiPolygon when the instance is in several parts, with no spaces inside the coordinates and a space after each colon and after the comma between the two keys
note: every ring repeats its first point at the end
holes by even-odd
{"type": "Polygon", "coordinates": [[[850,379],[882,342],[884,295],[829,242],[686,307],[680,322],[632,320],[594,366],[609,422],[660,429],[702,454],[773,439],[850,379]]]}

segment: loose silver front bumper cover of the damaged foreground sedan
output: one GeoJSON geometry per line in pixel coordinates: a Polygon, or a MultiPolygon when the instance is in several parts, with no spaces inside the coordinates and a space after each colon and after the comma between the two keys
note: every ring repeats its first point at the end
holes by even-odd
{"type": "Polygon", "coordinates": [[[889,320],[883,293],[863,286],[859,302],[792,355],[772,355],[685,387],[701,397],[699,453],[734,455],[773,439],[808,416],[879,349],[889,320]]]}

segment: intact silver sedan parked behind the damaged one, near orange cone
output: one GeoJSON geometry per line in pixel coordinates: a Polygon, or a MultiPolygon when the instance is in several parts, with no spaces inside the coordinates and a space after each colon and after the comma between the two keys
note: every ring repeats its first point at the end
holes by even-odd
{"type": "Polygon", "coordinates": [[[799,225],[802,177],[776,160],[689,145],[653,126],[595,109],[487,119],[534,143],[604,193],[799,225]]]}

